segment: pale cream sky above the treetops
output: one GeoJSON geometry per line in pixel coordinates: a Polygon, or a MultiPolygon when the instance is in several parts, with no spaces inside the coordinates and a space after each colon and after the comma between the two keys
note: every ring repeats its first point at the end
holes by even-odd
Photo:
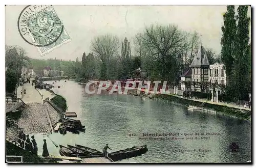
{"type": "Polygon", "coordinates": [[[23,47],[34,59],[72,60],[91,52],[91,40],[111,33],[120,42],[125,37],[134,53],[134,36],[151,24],[176,24],[179,29],[197,31],[202,45],[221,51],[221,26],[226,6],[53,6],[71,41],[41,56],[38,49],[19,35],[17,20],[26,6],[6,6],[6,44],[23,47]]]}

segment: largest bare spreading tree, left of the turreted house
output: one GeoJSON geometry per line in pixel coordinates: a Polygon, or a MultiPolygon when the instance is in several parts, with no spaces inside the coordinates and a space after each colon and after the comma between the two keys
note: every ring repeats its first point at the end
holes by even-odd
{"type": "Polygon", "coordinates": [[[183,66],[183,53],[187,49],[188,34],[176,25],[151,25],[138,34],[143,48],[147,48],[145,68],[151,78],[175,83],[183,66]],[[153,68],[154,67],[154,68],[153,68]]]}

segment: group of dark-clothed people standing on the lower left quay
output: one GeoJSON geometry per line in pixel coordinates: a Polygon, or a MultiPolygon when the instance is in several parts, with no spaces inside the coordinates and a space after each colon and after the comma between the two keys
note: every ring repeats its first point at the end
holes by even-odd
{"type": "MultiPolygon", "coordinates": [[[[21,130],[21,129],[19,130],[18,143],[20,144],[20,147],[22,147],[23,149],[25,148],[25,150],[27,150],[29,152],[32,152],[35,155],[37,155],[38,148],[37,148],[37,144],[36,144],[36,141],[35,141],[35,136],[32,135],[31,138],[32,138],[32,140],[30,142],[29,135],[28,134],[26,135],[23,132],[23,130],[21,130]]],[[[48,157],[49,156],[46,139],[44,139],[44,145],[42,146],[42,156],[43,157],[48,157]]]]}

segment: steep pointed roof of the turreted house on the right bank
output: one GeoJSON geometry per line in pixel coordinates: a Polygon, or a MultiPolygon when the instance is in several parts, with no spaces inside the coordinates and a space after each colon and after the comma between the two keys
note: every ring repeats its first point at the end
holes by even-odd
{"type": "Polygon", "coordinates": [[[209,61],[203,46],[200,47],[199,52],[189,67],[209,67],[209,61]]]}

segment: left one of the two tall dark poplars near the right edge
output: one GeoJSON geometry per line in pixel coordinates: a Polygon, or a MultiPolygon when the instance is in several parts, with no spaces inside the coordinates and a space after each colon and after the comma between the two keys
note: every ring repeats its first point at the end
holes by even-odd
{"type": "Polygon", "coordinates": [[[221,27],[222,38],[221,38],[221,59],[225,65],[227,83],[229,83],[229,76],[231,74],[234,55],[236,53],[236,18],[234,12],[234,6],[228,5],[227,12],[223,15],[224,25],[221,27]]]}

